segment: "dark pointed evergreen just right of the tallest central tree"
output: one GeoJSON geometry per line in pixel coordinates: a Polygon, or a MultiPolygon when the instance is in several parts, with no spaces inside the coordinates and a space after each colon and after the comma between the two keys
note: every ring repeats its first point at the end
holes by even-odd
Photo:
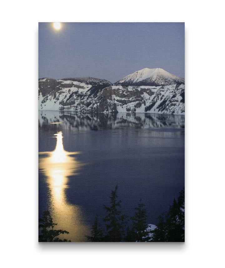
{"type": "Polygon", "coordinates": [[[147,231],[147,210],[144,209],[145,204],[142,203],[142,199],[139,201],[138,207],[135,208],[136,212],[134,217],[131,218],[133,239],[137,242],[145,242],[150,239],[149,231],[147,231]]]}

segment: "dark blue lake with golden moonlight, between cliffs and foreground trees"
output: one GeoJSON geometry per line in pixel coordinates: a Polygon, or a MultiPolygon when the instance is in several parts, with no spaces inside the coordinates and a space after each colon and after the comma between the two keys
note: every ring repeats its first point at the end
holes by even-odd
{"type": "Polygon", "coordinates": [[[86,241],[117,184],[123,212],[142,198],[157,225],[184,187],[184,116],[39,111],[39,217],[48,209],[60,238],[86,241]]]}

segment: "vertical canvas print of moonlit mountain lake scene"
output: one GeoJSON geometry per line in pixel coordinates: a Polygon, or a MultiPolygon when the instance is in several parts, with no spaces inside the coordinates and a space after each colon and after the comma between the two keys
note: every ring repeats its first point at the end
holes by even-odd
{"type": "Polygon", "coordinates": [[[39,242],[184,242],[184,23],[39,23],[39,242]]]}

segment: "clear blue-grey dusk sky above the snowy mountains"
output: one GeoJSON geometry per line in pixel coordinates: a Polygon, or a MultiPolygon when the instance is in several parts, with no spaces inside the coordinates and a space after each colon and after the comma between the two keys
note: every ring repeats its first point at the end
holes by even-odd
{"type": "Polygon", "coordinates": [[[184,78],[184,23],[39,23],[39,78],[112,83],[143,68],[184,78]]]}

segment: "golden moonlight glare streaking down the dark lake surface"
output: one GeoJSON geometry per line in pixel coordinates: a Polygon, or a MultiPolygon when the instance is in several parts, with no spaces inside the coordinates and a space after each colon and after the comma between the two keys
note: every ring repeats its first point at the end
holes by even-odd
{"type": "Polygon", "coordinates": [[[89,227],[83,224],[81,209],[67,201],[65,189],[68,187],[69,177],[76,175],[83,163],[76,160],[74,155],[79,152],[67,152],[63,148],[63,135],[59,131],[54,134],[57,138],[53,152],[39,152],[39,169],[46,177],[49,188],[49,211],[55,229],[63,229],[69,234],[61,234],[59,238],[70,239],[72,242],[85,241],[89,227]]]}

